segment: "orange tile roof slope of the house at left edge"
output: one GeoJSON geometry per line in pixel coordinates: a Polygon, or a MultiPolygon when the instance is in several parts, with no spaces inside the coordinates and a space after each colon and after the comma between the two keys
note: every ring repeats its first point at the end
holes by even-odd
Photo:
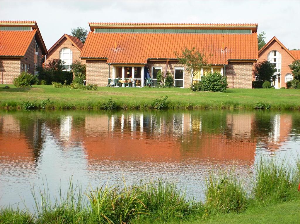
{"type": "Polygon", "coordinates": [[[0,31],[0,56],[24,56],[36,32],[0,31]]]}

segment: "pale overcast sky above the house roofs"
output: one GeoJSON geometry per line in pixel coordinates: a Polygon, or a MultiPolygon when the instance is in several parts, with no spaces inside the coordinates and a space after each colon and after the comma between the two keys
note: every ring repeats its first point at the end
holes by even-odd
{"type": "Polygon", "coordinates": [[[276,36],[300,49],[300,0],[260,1],[13,1],[0,0],[0,20],[35,20],[49,49],[88,22],[258,23],[266,42],[276,36]]]}

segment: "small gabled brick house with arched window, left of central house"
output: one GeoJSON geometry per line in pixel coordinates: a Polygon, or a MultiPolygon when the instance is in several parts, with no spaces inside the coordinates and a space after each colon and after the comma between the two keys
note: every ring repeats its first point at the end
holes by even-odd
{"type": "Polygon", "coordinates": [[[81,60],[80,54],[83,48],[83,43],[75,36],[68,34],[62,35],[61,38],[48,50],[46,55],[46,64],[51,59],[61,59],[64,61],[64,67],[66,71],[70,71],[70,65],[73,61],[79,60],[85,63],[85,60],[81,60]]]}

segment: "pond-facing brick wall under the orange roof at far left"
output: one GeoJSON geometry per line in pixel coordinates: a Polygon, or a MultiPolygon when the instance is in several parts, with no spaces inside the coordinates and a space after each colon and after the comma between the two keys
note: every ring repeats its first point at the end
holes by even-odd
{"type": "Polygon", "coordinates": [[[20,59],[0,58],[0,83],[12,84],[13,78],[20,74],[20,59]]]}

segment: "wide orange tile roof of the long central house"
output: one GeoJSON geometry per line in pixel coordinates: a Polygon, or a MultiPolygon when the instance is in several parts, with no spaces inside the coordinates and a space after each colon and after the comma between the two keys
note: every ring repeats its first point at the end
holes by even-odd
{"type": "Polygon", "coordinates": [[[150,58],[176,59],[174,51],[180,53],[182,48],[194,46],[198,51],[203,51],[211,64],[223,65],[232,59],[258,59],[257,33],[90,32],[80,57],[107,58],[107,63],[143,64],[150,58]]]}

